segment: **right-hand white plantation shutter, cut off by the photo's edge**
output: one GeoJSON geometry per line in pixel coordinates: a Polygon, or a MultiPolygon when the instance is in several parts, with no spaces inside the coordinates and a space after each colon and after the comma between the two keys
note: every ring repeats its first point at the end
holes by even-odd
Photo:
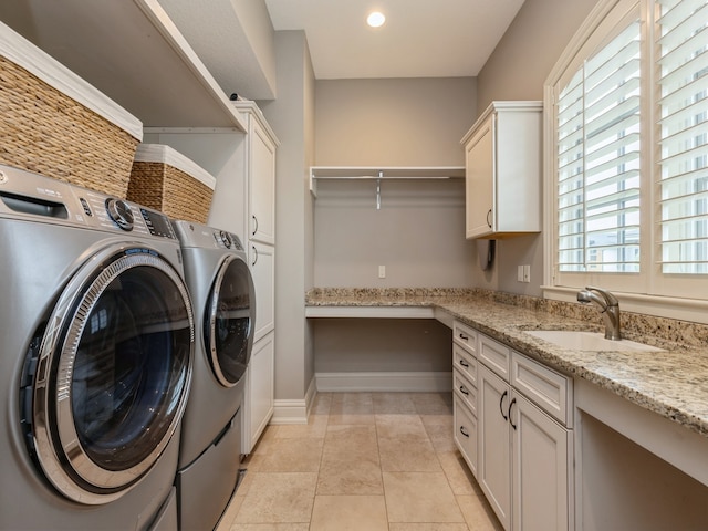
{"type": "Polygon", "coordinates": [[[660,264],[708,273],[708,3],[660,0],[660,264]]]}

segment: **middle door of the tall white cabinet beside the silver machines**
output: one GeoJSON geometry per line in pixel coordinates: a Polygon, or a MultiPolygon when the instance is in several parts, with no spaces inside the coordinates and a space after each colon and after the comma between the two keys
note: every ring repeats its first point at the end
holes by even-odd
{"type": "Polygon", "coordinates": [[[275,327],[275,248],[251,242],[249,254],[256,288],[253,341],[258,341],[275,327]]]}

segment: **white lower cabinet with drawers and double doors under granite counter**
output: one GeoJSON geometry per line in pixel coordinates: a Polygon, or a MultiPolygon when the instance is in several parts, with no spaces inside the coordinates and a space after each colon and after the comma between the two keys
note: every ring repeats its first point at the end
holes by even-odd
{"type": "Polygon", "coordinates": [[[458,448],[506,530],[572,529],[572,381],[481,333],[478,341],[475,414],[452,372],[458,448]],[[460,436],[465,423],[476,445],[460,436]]]}

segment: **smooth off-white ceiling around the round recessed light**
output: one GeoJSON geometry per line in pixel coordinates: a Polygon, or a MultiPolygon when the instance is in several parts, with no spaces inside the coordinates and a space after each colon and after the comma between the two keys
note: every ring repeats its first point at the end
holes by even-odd
{"type": "Polygon", "coordinates": [[[266,0],[275,31],[304,30],[315,77],[475,76],[523,0],[266,0]],[[371,11],[386,15],[366,25],[371,11]]]}

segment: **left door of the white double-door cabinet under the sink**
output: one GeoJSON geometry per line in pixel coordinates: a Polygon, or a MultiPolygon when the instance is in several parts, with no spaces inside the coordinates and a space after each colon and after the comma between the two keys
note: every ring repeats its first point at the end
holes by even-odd
{"type": "Polygon", "coordinates": [[[478,481],[506,530],[511,523],[510,387],[485,365],[478,371],[478,481]]]}

